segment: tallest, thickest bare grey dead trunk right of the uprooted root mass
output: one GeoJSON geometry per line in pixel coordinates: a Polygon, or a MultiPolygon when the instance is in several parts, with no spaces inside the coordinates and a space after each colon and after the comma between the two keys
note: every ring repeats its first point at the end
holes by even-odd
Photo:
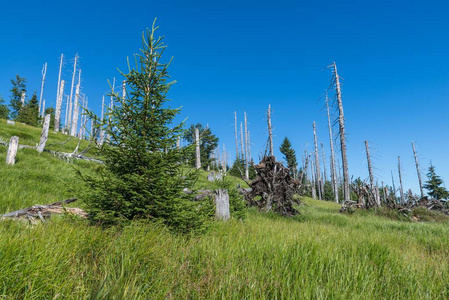
{"type": "Polygon", "coordinates": [[[348,159],[346,156],[345,116],[343,112],[343,101],[341,99],[340,76],[338,75],[337,65],[335,64],[335,62],[333,63],[333,67],[334,67],[335,88],[337,93],[338,111],[339,111],[338,122],[340,125],[341,161],[343,163],[343,195],[344,200],[349,201],[350,192],[349,192],[348,159]]]}

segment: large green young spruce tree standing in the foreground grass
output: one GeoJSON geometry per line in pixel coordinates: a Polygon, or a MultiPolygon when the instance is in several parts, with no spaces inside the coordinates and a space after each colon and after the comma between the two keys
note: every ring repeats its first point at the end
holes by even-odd
{"type": "Polygon", "coordinates": [[[174,81],[168,81],[170,62],[161,60],[166,46],[154,36],[156,29],[153,24],[143,35],[137,65],[122,73],[125,98],[112,92],[114,108],[103,124],[109,137],[101,150],[104,168],[98,177],[85,177],[88,189],[82,196],[94,222],[150,219],[177,232],[198,231],[211,205],[183,192],[192,189],[195,174],[182,172],[184,150],[176,141],[183,124],[172,124],[180,110],[166,106],[174,81]]]}

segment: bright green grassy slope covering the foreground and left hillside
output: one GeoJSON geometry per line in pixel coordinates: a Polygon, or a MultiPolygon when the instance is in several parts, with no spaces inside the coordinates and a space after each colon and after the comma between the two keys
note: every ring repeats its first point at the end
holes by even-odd
{"type": "MultiPolygon", "coordinates": [[[[1,159],[5,153],[0,147],[1,159]]],[[[20,150],[15,166],[0,161],[0,212],[70,197],[77,180],[58,158],[20,150]]],[[[154,224],[103,230],[70,217],[37,226],[1,221],[0,298],[449,297],[447,224],[342,215],[334,203],[304,202],[294,218],[250,210],[243,222],[215,223],[193,238],[154,224]]]]}

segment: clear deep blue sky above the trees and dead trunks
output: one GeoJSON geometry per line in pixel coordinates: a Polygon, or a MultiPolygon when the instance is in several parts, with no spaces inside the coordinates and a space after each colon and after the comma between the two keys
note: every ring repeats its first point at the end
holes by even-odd
{"type": "Polygon", "coordinates": [[[316,121],[329,154],[319,98],[330,82],[326,66],[336,61],[350,174],[368,177],[368,140],[379,182],[390,184],[393,170],[397,184],[400,155],[404,189],[418,193],[412,140],[423,173],[432,161],[449,180],[448,16],[445,1],[2,1],[0,95],[9,102],[16,74],[39,92],[48,62],[45,98],[54,106],[59,56],[67,58],[63,78],[70,81],[79,53],[82,91],[99,112],[107,80],[118,77],[117,67],[125,70],[157,17],[166,57],[174,57],[178,83],[169,97],[183,107],[179,119],[208,123],[233,157],[234,111],[248,113],[257,158],[268,104],[276,149],[288,136],[300,158],[306,144],[311,150],[316,121]]]}

